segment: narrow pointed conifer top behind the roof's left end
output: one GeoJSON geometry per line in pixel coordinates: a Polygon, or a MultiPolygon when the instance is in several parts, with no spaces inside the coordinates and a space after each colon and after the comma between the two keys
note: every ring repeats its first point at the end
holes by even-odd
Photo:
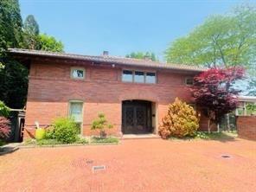
{"type": "Polygon", "coordinates": [[[23,24],[23,48],[39,49],[39,25],[32,15],[27,16],[23,24]]]}

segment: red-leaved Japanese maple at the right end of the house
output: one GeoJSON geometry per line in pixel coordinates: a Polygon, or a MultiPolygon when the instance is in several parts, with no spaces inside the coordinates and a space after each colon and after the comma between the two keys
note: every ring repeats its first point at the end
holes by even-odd
{"type": "Polygon", "coordinates": [[[190,90],[195,104],[205,110],[211,123],[218,124],[220,118],[233,112],[238,106],[237,96],[240,90],[234,88],[236,80],[242,80],[245,70],[242,67],[210,68],[195,76],[190,90]]]}

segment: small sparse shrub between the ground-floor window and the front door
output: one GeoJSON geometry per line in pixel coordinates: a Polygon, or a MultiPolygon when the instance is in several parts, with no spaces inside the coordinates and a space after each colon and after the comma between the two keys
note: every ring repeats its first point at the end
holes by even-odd
{"type": "Polygon", "coordinates": [[[92,130],[100,131],[100,138],[106,138],[106,128],[112,129],[113,125],[106,120],[105,114],[99,113],[98,118],[93,121],[92,130]]]}

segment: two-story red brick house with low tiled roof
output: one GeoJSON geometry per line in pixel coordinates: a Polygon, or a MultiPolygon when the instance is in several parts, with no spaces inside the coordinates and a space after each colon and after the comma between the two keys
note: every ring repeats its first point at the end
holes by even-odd
{"type": "MultiPolygon", "coordinates": [[[[29,67],[25,137],[35,121],[50,125],[57,117],[74,117],[82,135],[91,135],[99,112],[114,125],[109,132],[157,133],[176,97],[193,103],[189,86],[202,68],[114,57],[10,49],[29,67]]],[[[205,120],[201,129],[206,129],[205,120]]]]}

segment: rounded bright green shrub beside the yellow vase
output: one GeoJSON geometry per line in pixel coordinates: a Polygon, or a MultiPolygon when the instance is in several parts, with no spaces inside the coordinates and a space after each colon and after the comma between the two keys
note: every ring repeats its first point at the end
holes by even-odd
{"type": "Polygon", "coordinates": [[[71,144],[77,140],[77,124],[73,118],[57,118],[53,123],[54,129],[48,132],[48,138],[55,138],[64,144],[71,144]]]}

